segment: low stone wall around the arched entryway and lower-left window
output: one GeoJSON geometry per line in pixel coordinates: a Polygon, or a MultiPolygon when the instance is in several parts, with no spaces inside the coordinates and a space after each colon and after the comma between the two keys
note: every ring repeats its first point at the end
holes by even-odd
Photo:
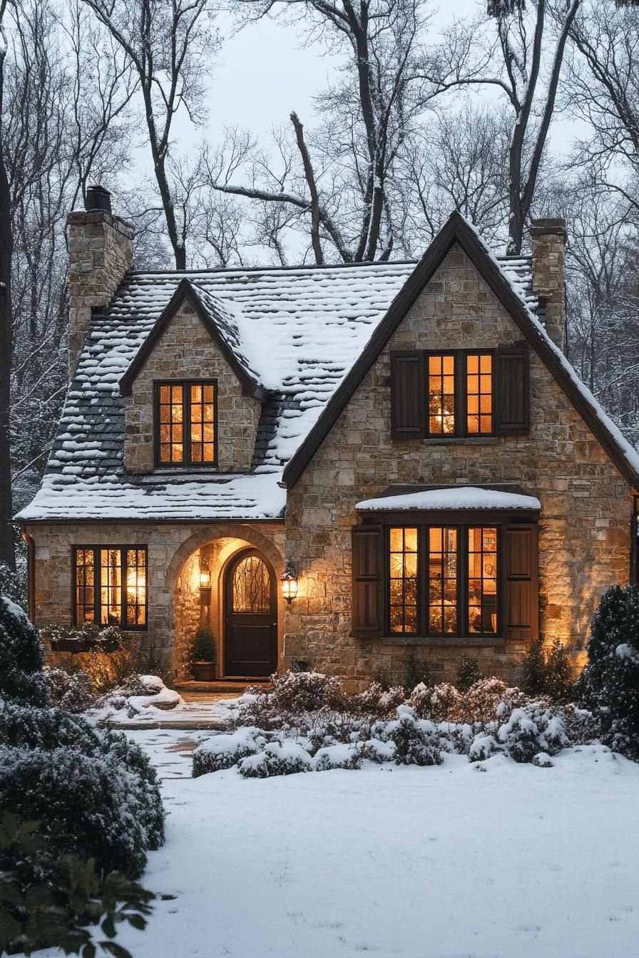
{"type": "MultiPolygon", "coordinates": [[[[51,523],[25,524],[35,542],[35,625],[72,620],[72,546],[148,546],[148,630],[144,635],[163,668],[184,677],[186,647],[194,633],[199,550],[212,570],[211,626],[222,650],[222,610],[217,580],[225,562],[253,546],[284,571],[283,523],[51,523]]],[[[282,600],[280,600],[283,606],[282,600]]],[[[279,644],[284,653],[284,608],[279,609],[279,644]]]]}

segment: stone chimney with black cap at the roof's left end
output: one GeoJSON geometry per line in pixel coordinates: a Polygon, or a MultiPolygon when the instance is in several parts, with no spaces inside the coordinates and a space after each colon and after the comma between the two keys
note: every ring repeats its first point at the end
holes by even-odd
{"type": "Polygon", "coordinates": [[[69,239],[69,378],[91,321],[105,307],[133,262],[133,227],[111,214],[111,194],[101,186],[86,191],[84,211],[67,217],[69,239]]]}

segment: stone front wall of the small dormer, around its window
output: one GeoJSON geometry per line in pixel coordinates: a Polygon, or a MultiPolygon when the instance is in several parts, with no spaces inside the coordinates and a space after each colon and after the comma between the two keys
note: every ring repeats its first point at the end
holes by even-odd
{"type": "Polygon", "coordinates": [[[217,470],[245,472],[251,466],[262,404],[242,396],[238,377],[217,349],[189,303],[162,333],[125,399],[125,465],[153,471],[153,381],[217,379],[217,470]]]}

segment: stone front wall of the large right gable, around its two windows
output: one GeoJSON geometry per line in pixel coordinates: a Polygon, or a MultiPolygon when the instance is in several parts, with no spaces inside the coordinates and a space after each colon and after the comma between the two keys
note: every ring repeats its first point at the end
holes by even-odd
{"type": "Polygon", "coordinates": [[[286,610],[286,661],[348,676],[384,672],[400,680],[410,652],[434,678],[454,678],[461,654],[484,673],[518,679],[522,649],[474,640],[416,644],[351,637],[351,526],[355,503],[392,483],[517,483],[541,501],[539,588],[545,641],[582,658],[589,620],[610,584],[628,582],[628,485],[546,367],[531,352],[527,436],[394,442],[390,435],[391,349],[514,346],[517,329],[466,255],[454,247],[348,403],[297,485],[288,492],[286,559],[299,598],[286,610]]]}

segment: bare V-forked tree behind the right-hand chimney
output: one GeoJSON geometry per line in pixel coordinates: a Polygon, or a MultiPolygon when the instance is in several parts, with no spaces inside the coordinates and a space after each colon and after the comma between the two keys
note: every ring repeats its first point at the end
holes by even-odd
{"type": "Polygon", "coordinates": [[[440,91],[493,86],[511,108],[508,155],[508,252],[521,252],[524,226],[535,198],[537,177],[555,112],[566,41],[582,0],[524,0],[489,3],[496,39],[478,46],[476,23],[455,25],[429,79],[440,91]],[[553,31],[552,39],[550,32],[553,31]]]}

